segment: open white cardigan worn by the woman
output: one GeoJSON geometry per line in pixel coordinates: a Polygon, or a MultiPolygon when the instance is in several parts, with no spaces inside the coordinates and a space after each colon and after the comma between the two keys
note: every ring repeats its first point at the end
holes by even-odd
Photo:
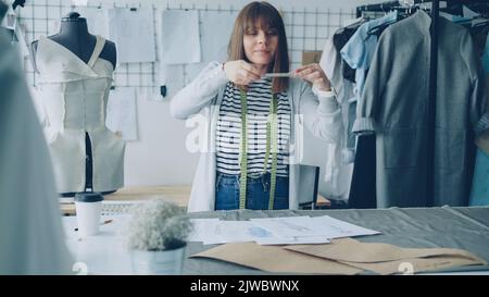
{"type": "MultiPolygon", "coordinates": [[[[299,203],[308,201],[302,178],[312,177],[311,170],[301,168],[303,153],[303,126],[314,136],[329,143],[336,143],[342,132],[341,112],[333,92],[314,91],[303,81],[289,81],[287,98],[290,103],[291,128],[289,150],[289,208],[298,209],[299,203]]],[[[187,120],[199,114],[202,125],[199,128],[199,150],[201,153],[193,178],[189,212],[212,211],[215,203],[216,151],[215,131],[220,106],[228,79],[222,70],[222,64],[210,63],[188,86],[176,94],[170,104],[173,116],[187,120]]],[[[193,117],[195,120],[195,117],[193,117]]],[[[309,169],[309,168],[308,168],[309,169]]]]}

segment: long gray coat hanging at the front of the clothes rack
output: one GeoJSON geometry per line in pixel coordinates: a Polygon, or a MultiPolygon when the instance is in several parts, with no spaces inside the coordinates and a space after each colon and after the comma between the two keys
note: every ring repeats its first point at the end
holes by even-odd
{"type": "Polygon", "coordinates": [[[430,23],[418,11],[383,33],[359,102],[353,131],[376,134],[379,208],[468,203],[474,136],[489,127],[484,78],[468,30],[440,17],[435,160],[427,160],[430,23]]]}

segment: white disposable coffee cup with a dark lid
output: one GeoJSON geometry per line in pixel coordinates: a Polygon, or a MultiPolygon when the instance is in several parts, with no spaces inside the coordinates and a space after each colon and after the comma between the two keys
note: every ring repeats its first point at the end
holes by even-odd
{"type": "Polygon", "coordinates": [[[100,193],[75,194],[76,222],[82,236],[99,233],[103,196],[100,193]]]}

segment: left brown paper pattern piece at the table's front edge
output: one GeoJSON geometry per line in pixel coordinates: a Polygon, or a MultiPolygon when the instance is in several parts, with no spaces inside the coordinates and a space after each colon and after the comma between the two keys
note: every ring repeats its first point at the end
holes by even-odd
{"type": "Polygon", "coordinates": [[[212,258],[268,272],[358,274],[363,270],[336,261],[308,256],[276,246],[233,243],[192,255],[212,258]]]}

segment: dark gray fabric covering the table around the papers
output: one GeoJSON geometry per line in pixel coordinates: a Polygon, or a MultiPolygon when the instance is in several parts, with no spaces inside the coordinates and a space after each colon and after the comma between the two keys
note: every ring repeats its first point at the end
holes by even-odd
{"type": "MultiPolygon", "coordinates": [[[[364,243],[387,243],[408,248],[459,248],[473,252],[489,262],[489,208],[390,208],[347,210],[235,210],[191,213],[192,219],[220,218],[248,220],[293,215],[329,215],[367,228],[380,231],[374,236],[355,237],[364,243]]],[[[187,256],[215,247],[189,243],[187,256]]],[[[489,271],[489,265],[451,269],[453,272],[489,271]]],[[[185,274],[266,274],[264,271],[224,261],[190,258],[185,274]]]]}

